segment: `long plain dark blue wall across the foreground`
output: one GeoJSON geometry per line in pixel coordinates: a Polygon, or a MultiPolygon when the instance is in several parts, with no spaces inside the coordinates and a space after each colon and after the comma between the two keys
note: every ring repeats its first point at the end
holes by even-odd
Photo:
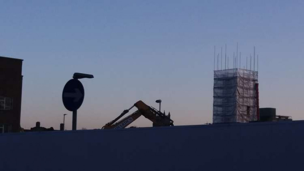
{"type": "Polygon", "coordinates": [[[0,170],[302,170],[304,121],[0,135],[0,170]]]}

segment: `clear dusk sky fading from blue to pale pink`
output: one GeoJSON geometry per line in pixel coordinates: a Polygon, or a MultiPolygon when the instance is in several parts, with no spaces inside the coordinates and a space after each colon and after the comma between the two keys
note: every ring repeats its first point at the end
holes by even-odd
{"type": "MultiPolygon", "coordinates": [[[[260,107],[304,120],[303,1],[0,0],[0,56],[23,59],[21,127],[72,128],[62,89],[85,89],[77,129],[101,128],[136,101],[175,125],[212,122],[214,46],[259,55],[260,107]]],[[[242,63],[242,65],[246,65],[242,63]]],[[[232,63],[230,63],[232,67],[232,63]]],[[[135,110],[135,109],[134,109],[135,110]]],[[[132,110],[133,111],[133,110],[132,110]]],[[[130,126],[150,127],[140,117],[130,126]]]]}

